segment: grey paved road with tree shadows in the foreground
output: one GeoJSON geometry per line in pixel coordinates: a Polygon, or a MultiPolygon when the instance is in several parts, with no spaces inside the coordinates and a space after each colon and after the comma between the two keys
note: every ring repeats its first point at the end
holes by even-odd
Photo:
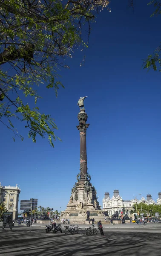
{"type": "Polygon", "coordinates": [[[137,226],[104,228],[105,237],[45,233],[36,225],[32,232],[25,225],[0,227],[0,256],[161,256],[161,225],[137,226]]]}

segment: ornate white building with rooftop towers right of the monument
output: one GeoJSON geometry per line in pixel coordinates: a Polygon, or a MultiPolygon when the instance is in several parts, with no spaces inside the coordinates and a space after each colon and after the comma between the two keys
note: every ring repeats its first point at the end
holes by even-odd
{"type": "Polygon", "coordinates": [[[117,189],[114,190],[112,198],[110,198],[109,192],[105,192],[103,198],[103,210],[108,211],[109,216],[112,216],[113,214],[115,214],[116,211],[118,211],[119,215],[121,215],[121,212],[123,212],[123,215],[127,214],[129,215],[129,217],[133,218],[134,213],[132,213],[131,210],[133,204],[135,204],[135,201],[137,201],[138,204],[161,204],[161,192],[158,193],[157,202],[152,199],[151,195],[147,195],[147,199],[142,197],[141,200],[123,200],[122,197],[119,195],[119,191],[117,189]]]}

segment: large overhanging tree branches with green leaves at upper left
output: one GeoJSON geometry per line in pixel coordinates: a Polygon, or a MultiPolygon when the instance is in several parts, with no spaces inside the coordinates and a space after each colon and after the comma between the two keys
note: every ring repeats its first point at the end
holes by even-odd
{"type": "Polygon", "coordinates": [[[13,118],[26,122],[34,143],[37,134],[47,135],[54,146],[58,138],[54,120],[26,104],[26,97],[37,104],[35,87],[40,84],[58,96],[63,87],[59,66],[66,67],[65,57],[72,58],[74,49],[87,47],[83,26],[88,26],[88,41],[95,12],[108,4],[108,0],[0,0],[0,121],[15,136],[13,118]]]}

